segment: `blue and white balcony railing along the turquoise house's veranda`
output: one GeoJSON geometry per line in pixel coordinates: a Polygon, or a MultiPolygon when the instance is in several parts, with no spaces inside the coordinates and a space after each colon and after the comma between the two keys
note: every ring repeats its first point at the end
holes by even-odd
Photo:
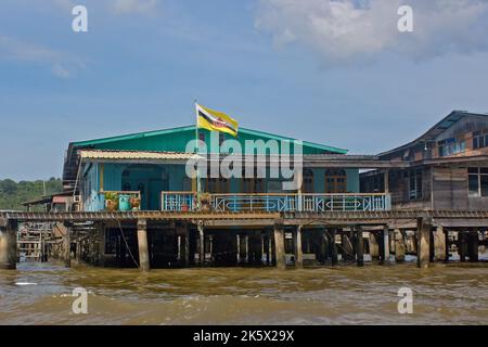
{"type": "MultiPolygon", "coordinates": [[[[389,194],[210,194],[214,211],[326,213],[390,210],[389,194]]],[[[196,209],[196,195],[189,192],[164,192],[163,210],[196,209]]]]}

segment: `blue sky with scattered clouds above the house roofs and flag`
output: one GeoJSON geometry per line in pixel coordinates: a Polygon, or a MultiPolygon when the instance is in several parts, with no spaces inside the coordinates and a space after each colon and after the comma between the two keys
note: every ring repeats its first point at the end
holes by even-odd
{"type": "Polygon", "coordinates": [[[243,127],[388,150],[488,112],[487,17],[485,0],[2,0],[0,179],[60,177],[69,141],[192,124],[195,98],[243,127]]]}

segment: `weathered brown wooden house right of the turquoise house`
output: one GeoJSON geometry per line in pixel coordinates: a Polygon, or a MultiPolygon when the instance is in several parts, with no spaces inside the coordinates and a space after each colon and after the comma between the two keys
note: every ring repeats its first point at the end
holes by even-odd
{"type": "Polygon", "coordinates": [[[408,164],[360,177],[361,192],[388,192],[394,209],[488,210],[488,114],[454,111],[377,156],[408,164]]]}

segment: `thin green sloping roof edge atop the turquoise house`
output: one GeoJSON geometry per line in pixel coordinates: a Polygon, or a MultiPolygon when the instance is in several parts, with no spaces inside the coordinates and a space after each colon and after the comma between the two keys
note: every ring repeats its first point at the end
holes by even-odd
{"type": "MultiPolygon", "coordinates": [[[[180,131],[194,131],[194,130],[195,130],[195,126],[177,127],[177,128],[170,128],[170,129],[143,131],[143,132],[129,133],[129,134],[124,134],[124,136],[94,139],[94,140],[88,140],[88,141],[78,141],[78,142],[74,142],[73,145],[74,146],[90,146],[90,145],[97,145],[97,144],[103,144],[103,143],[110,143],[110,142],[134,140],[134,139],[141,139],[141,138],[156,137],[156,136],[162,136],[162,134],[169,134],[169,133],[175,133],[175,132],[180,132],[180,131]]],[[[273,139],[273,140],[278,140],[278,141],[294,141],[294,140],[296,140],[296,139],[288,138],[288,137],[282,137],[282,136],[278,136],[274,133],[252,130],[252,129],[246,129],[246,128],[240,128],[239,132],[251,134],[251,136],[256,136],[256,137],[260,137],[260,138],[273,139]]],[[[321,151],[328,151],[328,152],[337,153],[337,154],[346,154],[348,152],[348,150],[338,149],[338,147],[319,144],[319,143],[309,142],[309,141],[303,141],[303,144],[304,144],[304,146],[309,146],[309,147],[318,149],[321,151]]]]}

